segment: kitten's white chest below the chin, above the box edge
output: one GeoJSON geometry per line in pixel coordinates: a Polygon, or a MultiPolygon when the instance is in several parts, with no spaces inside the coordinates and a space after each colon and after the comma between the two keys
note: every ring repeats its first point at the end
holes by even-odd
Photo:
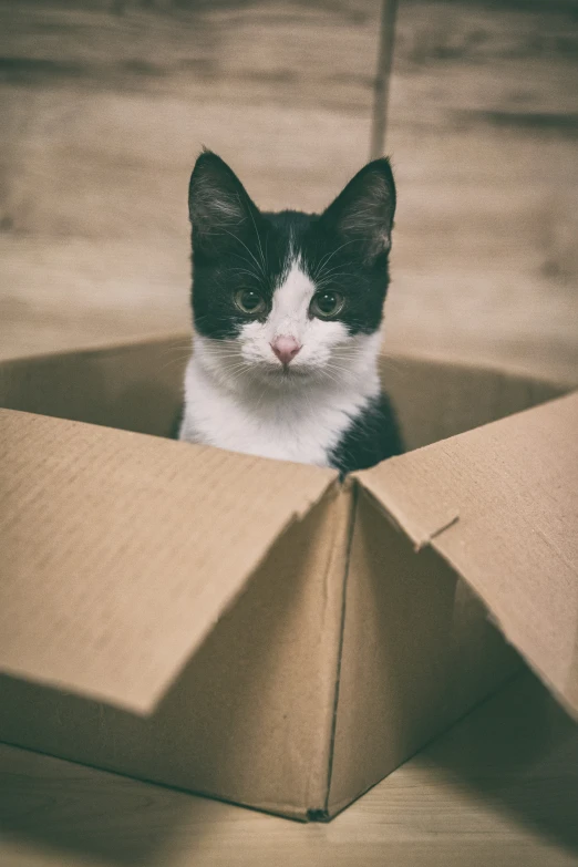
{"type": "Polygon", "coordinates": [[[246,405],[220,390],[192,359],[185,379],[180,440],[280,461],[328,466],[331,451],[359,412],[359,393],[316,405],[302,394],[260,395],[246,405]]]}

